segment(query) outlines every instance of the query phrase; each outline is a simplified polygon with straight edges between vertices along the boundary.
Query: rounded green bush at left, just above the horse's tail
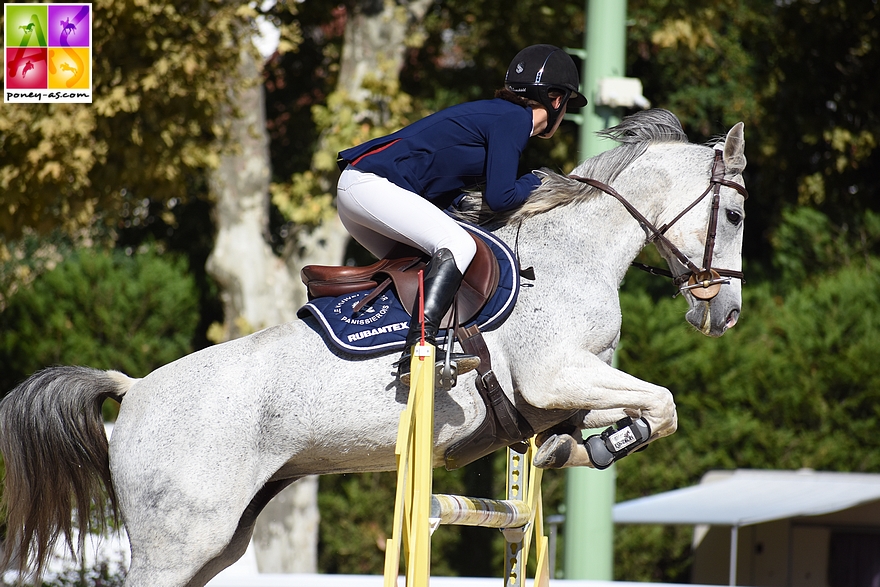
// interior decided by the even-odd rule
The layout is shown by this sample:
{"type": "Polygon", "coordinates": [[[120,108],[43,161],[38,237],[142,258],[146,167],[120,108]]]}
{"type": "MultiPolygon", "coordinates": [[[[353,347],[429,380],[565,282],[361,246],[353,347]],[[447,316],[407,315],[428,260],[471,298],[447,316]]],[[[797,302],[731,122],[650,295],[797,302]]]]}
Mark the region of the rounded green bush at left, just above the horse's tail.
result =
{"type": "Polygon", "coordinates": [[[0,313],[0,388],[52,364],[134,377],[190,351],[198,299],[185,263],[146,250],[78,250],[0,313]]]}

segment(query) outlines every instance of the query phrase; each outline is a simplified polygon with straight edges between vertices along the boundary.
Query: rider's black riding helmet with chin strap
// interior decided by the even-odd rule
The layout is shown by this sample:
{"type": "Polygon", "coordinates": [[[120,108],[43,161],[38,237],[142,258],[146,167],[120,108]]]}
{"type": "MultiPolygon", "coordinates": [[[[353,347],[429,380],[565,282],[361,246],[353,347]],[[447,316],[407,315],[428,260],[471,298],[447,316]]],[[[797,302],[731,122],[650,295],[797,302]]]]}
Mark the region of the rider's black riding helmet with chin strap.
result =
{"type": "Polygon", "coordinates": [[[562,114],[562,106],[568,109],[582,108],[587,99],[579,92],[580,78],[572,58],[553,45],[532,45],[516,54],[507,75],[504,87],[511,92],[534,100],[547,109],[547,130],[555,125],[562,114]],[[553,107],[550,90],[562,92],[562,106],[553,107]]]}

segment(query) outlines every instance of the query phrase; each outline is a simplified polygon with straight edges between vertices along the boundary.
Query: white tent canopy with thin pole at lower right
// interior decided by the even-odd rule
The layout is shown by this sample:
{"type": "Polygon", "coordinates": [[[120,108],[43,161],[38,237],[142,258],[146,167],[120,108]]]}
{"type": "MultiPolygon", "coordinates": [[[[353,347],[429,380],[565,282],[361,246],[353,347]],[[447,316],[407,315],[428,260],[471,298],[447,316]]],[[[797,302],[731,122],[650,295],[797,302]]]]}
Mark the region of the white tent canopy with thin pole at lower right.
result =
{"type": "Polygon", "coordinates": [[[699,485],[618,503],[617,524],[731,527],[730,584],[736,584],[740,526],[838,512],[880,500],[880,474],[736,470],[707,473],[699,485]]]}

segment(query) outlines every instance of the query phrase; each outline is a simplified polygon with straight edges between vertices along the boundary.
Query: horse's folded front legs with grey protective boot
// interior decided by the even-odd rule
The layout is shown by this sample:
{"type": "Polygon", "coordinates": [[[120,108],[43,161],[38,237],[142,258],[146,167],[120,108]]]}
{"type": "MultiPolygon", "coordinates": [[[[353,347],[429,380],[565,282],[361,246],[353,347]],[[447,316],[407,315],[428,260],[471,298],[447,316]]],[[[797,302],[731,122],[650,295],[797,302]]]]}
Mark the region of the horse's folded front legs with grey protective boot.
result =
{"type": "Polygon", "coordinates": [[[537,407],[582,410],[576,420],[539,435],[535,455],[538,467],[605,468],[649,442],[672,434],[678,426],[675,402],[668,389],[609,367],[594,355],[584,359],[575,367],[554,369],[549,378],[554,383],[549,388],[533,393],[526,390],[527,386],[521,390],[523,398],[537,407]],[[575,403],[579,401],[584,403],[575,403]],[[583,431],[594,428],[605,430],[585,439],[583,431]]]}

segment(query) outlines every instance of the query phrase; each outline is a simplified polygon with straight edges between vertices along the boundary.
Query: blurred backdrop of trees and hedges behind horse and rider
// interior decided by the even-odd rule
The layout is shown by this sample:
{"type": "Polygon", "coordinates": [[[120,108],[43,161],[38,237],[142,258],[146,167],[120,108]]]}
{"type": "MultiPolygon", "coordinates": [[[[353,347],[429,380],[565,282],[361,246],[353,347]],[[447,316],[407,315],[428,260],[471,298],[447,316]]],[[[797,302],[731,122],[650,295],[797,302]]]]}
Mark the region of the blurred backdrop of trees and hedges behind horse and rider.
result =
{"type": "MultiPolygon", "coordinates": [[[[616,500],[712,469],[880,472],[876,0],[624,4],[621,75],[691,142],[743,121],[751,197],[723,338],[687,326],[667,281],[626,278],[618,367],[669,387],[680,424],[616,466],[616,500]]],[[[337,151],[491,97],[519,49],[583,48],[588,27],[584,0],[92,7],[93,103],[0,108],[2,393],[53,364],[141,377],[295,319],[304,264],[367,260],[335,216],[337,151]]],[[[579,130],[533,141],[522,170],[571,170],[579,130]]],[[[437,471],[435,491],[501,497],[504,465],[437,471]]],[[[545,475],[547,513],[565,484],[545,475]]],[[[381,574],[393,490],[391,473],[298,482],[261,518],[260,570],[381,574]]],[[[692,538],[617,527],[614,578],[687,582],[692,538]]],[[[433,542],[435,574],[500,573],[495,531],[433,542]]]]}

